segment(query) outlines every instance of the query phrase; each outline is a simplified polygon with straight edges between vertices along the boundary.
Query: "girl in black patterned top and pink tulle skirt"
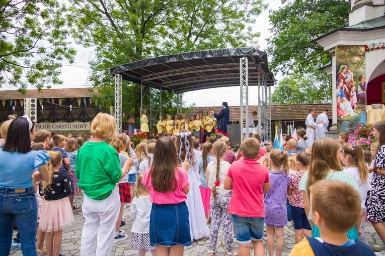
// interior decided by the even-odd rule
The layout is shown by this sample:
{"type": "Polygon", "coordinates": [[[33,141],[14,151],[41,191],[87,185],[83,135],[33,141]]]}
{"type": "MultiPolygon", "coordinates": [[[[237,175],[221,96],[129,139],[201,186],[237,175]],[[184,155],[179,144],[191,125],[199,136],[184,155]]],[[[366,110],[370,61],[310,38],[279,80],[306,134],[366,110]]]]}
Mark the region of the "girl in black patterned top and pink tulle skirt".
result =
{"type": "Polygon", "coordinates": [[[48,160],[50,178],[43,182],[44,202],[38,228],[47,232],[45,245],[48,256],[59,256],[63,228],[73,221],[68,199],[71,186],[68,174],[59,172],[63,160],[61,153],[51,151],[48,154],[52,155],[48,160]]]}

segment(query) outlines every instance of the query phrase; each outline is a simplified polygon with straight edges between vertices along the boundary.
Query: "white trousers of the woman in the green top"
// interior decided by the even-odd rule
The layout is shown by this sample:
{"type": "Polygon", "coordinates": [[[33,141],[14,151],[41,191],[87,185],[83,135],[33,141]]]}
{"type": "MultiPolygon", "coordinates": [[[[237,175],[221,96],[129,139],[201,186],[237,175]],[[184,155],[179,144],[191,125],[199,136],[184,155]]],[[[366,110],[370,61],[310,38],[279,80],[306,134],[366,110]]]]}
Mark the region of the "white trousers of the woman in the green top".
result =
{"type": "Polygon", "coordinates": [[[118,187],[104,200],[94,200],[84,194],[82,211],[86,220],[82,231],[81,256],[111,255],[119,209],[118,187]]]}

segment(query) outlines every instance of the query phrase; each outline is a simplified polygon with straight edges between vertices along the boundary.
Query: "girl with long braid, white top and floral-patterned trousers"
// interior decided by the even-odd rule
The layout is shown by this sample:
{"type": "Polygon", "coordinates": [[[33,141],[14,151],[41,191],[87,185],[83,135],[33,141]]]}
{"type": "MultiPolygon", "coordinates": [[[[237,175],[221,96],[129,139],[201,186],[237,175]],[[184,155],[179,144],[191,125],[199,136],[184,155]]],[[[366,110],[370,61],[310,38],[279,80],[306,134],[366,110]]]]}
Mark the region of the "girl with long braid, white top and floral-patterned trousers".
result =
{"type": "MultiPolygon", "coordinates": [[[[222,141],[217,141],[213,145],[216,161],[207,165],[207,184],[211,187],[212,197],[210,200],[211,210],[211,230],[210,230],[210,249],[207,251],[209,256],[214,256],[216,241],[220,222],[223,224],[224,243],[226,254],[234,255],[233,250],[233,222],[232,216],[228,212],[228,204],[232,197],[232,191],[223,188],[224,178],[230,168],[230,164],[224,161],[227,146],[222,141]]],[[[238,254],[238,251],[236,252],[238,254]]]]}

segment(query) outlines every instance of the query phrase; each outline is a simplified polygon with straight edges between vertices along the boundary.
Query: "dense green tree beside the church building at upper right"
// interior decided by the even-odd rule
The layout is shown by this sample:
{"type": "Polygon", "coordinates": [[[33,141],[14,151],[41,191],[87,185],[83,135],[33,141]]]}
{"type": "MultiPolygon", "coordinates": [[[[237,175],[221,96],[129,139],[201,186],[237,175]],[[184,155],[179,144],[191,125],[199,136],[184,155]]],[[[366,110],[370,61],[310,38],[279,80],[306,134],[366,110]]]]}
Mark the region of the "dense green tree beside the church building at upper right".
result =
{"type": "Polygon", "coordinates": [[[332,78],[318,69],[330,61],[329,53],[311,41],[348,26],[350,1],[282,0],[269,15],[270,65],[285,77],[272,94],[276,104],[330,102],[332,78]],[[329,87],[328,87],[329,86],[329,87]]]}

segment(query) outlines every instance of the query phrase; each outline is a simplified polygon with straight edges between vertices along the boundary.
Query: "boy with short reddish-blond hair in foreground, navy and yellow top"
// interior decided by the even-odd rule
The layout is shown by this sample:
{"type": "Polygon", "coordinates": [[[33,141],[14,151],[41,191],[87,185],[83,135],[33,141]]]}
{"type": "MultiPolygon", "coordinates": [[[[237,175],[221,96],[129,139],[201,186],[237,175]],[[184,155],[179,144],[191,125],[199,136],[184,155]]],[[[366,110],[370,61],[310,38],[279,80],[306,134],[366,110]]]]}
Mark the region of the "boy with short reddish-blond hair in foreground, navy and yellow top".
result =
{"type": "Polygon", "coordinates": [[[337,180],[318,181],[310,187],[310,205],[320,237],[303,238],[289,256],[375,255],[365,243],[347,237],[361,213],[361,198],[353,186],[337,180]]]}

